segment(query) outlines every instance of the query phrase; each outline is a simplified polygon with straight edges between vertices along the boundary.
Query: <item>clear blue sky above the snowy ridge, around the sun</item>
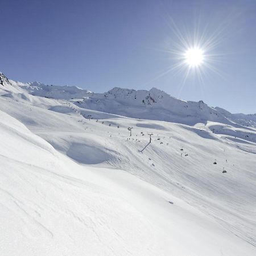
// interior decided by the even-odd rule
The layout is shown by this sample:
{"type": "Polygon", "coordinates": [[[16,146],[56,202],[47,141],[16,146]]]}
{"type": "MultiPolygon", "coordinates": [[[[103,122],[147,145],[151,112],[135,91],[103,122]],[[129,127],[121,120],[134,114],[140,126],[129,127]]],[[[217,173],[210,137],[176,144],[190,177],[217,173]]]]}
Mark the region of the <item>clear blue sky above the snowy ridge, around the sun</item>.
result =
{"type": "Polygon", "coordinates": [[[254,0],[0,3],[0,71],[9,79],[93,92],[155,87],[256,113],[254,0]],[[188,72],[178,58],[195,46],[204,46],[204,61],[188,72]]]}

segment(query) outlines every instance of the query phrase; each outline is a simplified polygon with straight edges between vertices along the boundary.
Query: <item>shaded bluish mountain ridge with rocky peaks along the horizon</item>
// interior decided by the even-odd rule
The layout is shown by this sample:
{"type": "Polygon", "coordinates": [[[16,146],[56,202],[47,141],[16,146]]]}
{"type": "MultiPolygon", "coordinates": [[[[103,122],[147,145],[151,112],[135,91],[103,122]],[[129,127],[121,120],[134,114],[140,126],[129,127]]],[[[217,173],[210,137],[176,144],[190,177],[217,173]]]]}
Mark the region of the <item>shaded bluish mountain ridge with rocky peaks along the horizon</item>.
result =
{"type": "Polygon", "coordinates": [[[256,127],[255,114],[231,114],[221,108],[210,108],[203,101],[179,100],[156,88],[147,91],[115,87],[106,93],[92,93],[76,86],[45,85],[40,82],[24,84],[12,80],[10,82],[19,85],[35,96],[63,100],[76,99],[75,104],[79,104],[82,108],[127,117],[177,122],[187,125],[207,123],[207,121],[226,124],[235,122],[242,126],[256,127]]]}

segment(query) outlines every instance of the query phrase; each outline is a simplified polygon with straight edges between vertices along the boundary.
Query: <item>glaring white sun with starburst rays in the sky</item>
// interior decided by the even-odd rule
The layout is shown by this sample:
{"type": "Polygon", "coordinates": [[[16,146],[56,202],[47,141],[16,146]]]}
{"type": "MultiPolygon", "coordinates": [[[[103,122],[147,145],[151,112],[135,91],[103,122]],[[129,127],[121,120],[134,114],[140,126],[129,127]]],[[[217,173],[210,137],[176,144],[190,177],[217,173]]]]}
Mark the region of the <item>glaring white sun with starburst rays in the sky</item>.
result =
{"type": "Polygon", "coordinates": [[[169,26],[172,34],[163,52],[168,53],[170,65],[159,72],[154,79],[168,73],[172,73],[172,77],[181,76],[182,89],[187,79],[196,79],[202,85],[204,79],[208,79],[211,73],[225,77],[218,68],[218,65],[224,63],[225,53],[217,51],[225,38],[224,28],[211,31],[207,29],[208,26],[200,25],[199,20],[193,27],[180,29],[172,18],[169,26]]]}

